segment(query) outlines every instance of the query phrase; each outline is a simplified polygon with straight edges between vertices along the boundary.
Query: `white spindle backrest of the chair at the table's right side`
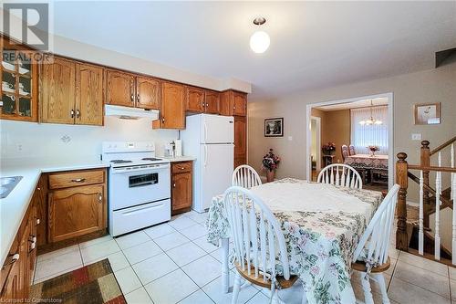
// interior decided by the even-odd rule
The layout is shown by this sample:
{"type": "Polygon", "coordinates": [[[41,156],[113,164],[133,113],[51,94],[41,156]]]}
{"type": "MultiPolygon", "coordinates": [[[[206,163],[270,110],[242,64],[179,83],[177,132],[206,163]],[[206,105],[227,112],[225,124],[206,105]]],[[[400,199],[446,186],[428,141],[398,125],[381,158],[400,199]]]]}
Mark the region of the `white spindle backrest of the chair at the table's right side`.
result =
{"type": "Polygon", "coordinates": [[[396,203],[398,202],[398,192],[399,184],[396,183],[379,205],[377,212],[368,224],[368,228],[359,239],[353,256],[354,262],[357,261],[363,250],[367,250],[365,258],[369,263],[382,265],[388,260],[389,236],[394,221],[396,203]],[[365,246],[367,246],[366,249],[365,246]]]}

